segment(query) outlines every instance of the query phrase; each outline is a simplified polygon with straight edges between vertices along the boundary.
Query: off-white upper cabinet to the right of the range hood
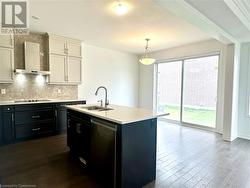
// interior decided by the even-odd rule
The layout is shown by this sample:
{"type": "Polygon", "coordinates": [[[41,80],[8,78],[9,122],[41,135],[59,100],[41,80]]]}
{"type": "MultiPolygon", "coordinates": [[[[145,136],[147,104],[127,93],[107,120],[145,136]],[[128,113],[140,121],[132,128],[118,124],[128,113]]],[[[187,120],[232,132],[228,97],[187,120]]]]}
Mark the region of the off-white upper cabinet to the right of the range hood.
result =
{"type": "Polygon", "coordinates": [[[50,84],[80,84],[81,41],[52,34],[48,36],[50,84]]]}

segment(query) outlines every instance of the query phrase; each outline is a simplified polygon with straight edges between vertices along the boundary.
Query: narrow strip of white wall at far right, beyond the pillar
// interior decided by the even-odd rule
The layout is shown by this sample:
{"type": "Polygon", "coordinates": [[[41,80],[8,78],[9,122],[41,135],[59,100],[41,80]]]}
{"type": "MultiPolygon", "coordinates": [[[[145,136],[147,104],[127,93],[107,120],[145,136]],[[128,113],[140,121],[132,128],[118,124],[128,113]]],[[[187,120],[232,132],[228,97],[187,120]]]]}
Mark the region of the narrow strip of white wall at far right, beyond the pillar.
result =
{"type": "Polygon", "coordinates": [[[239,126],[238,136],[250,139],[250,43],[242,44],[239,87],[239,126]]]}

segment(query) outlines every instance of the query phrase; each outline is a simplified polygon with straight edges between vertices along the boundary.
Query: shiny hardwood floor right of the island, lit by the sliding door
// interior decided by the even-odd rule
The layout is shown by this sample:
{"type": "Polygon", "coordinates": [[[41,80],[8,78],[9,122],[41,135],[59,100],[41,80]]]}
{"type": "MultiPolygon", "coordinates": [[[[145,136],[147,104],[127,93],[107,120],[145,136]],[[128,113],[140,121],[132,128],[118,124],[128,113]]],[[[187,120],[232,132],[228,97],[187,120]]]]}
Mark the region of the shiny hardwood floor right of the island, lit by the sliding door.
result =
{"type": "Polygon", "coordinates": [[[250,188],[250,141],[159,121],[152,187],[250,188]]]}

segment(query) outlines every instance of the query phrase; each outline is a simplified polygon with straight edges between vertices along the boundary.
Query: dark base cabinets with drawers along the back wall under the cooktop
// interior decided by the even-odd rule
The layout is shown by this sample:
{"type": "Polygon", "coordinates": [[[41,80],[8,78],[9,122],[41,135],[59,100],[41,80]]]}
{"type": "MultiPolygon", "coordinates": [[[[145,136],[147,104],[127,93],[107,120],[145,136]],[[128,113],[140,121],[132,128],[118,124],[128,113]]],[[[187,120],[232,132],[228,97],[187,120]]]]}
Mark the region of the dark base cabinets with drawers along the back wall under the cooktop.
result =
{"type": "Polygon", "coordinates": [[[65,105],[86,101],[0,106],[0,145],[67,130],[65,105]]]}

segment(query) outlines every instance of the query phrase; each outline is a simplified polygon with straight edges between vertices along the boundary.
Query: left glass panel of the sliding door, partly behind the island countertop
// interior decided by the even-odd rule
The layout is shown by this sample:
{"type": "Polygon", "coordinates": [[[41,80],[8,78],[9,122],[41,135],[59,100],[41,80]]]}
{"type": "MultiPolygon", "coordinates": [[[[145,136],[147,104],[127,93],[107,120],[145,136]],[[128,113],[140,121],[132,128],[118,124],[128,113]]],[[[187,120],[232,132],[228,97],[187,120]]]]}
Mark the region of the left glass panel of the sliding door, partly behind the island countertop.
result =
{"type": "Polygon", "coordinates": [[[182,61],[158,65],[158,112],[168,112],[167,119],[180,121],[182,61]]]}

